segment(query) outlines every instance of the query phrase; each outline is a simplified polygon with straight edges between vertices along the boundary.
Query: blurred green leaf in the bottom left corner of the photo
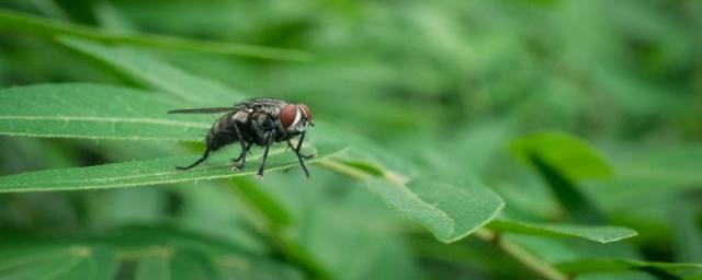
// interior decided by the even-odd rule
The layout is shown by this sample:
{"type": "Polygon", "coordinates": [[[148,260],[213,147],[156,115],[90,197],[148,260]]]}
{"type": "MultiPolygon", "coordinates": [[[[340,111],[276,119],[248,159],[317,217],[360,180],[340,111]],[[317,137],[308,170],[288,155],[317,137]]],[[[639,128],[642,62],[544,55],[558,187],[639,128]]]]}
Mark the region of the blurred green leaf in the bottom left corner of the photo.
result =
{"type": "Polygon", "coordinates": [[[88,245],[42,247],[12,246],[0,257],[2,279],[102,279],[116,271],[113,250],[88,245]]]}

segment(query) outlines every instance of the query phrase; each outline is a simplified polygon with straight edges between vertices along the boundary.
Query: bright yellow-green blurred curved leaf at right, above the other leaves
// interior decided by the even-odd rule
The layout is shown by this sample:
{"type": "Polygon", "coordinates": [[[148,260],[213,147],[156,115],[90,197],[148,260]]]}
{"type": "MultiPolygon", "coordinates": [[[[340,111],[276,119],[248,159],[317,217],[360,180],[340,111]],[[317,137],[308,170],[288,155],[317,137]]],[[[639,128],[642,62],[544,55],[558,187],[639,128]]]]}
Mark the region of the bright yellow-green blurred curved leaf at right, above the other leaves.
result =
{"type": "Polygon", "coordinates": [[[522,160],[537,155],[568,179],[610,178],[612,171],[587,142],[563,132],[536,133],[513,140],[510,151],[522,160]]]}

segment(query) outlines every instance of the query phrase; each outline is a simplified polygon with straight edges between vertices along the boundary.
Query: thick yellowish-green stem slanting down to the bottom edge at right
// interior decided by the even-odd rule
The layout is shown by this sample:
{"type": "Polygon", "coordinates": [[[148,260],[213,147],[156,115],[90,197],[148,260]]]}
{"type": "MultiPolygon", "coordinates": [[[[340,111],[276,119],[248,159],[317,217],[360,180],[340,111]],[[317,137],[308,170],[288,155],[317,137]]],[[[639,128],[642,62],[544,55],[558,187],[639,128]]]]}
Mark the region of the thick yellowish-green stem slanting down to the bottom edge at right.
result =
{"type": "Polygon", "coordinates": [[[475,236],[482,241],[495,244],[498,248],[505,252],[505,254],[509,255],[517,261],[521,262],[526,268],[529,268],[534,273],[541,276],[544,279],[548,279],[548,280],[568,280],[569,279],[568,276],[558,271],[556,268],[554,268],[550,264],[539,259],[536,256],[526,252],[524,248],[522,248],[518,244],[502,238],[499,232],[495,232],[495,231],[483,228],[475,232],[475,236]]]}

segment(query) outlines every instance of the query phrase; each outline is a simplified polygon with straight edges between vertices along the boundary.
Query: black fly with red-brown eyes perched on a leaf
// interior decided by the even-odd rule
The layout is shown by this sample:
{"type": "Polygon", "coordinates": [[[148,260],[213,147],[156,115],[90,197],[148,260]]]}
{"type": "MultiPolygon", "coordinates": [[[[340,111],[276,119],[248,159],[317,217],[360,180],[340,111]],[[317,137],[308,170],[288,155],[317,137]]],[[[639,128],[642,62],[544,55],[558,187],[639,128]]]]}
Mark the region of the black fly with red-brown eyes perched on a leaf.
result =
{"type": "Polygon", "coordinates": [[[204,162],[211,152],[217,151],[227,144],[239,142],[241,144],[241,153],[237,159],[234,159],[235,164],[231,168],[244,168],[246,155],[252,144],[264,147],[263,160],[257,173],[257,177],[262,178],[271,144],[285,141],[287,147],[297,155],[305,176],[309,177],[304,159],[310,159],[314,155],[305,155],[299,152],[307,128],[314,126],[312,110],[305,104],[290,104],[272,98],[254,98],[236,104],[234,107],[176,109],[168,113],[206,114],[225,112],[227,114],[212,125],[205,139],[206,149],[202,158],[191,165],[178,166],[178,170],[185,171],[195,167],[204,162]],[[299,141],[295,147],[291,139],[296,136],[299,136],[299,141]]]}

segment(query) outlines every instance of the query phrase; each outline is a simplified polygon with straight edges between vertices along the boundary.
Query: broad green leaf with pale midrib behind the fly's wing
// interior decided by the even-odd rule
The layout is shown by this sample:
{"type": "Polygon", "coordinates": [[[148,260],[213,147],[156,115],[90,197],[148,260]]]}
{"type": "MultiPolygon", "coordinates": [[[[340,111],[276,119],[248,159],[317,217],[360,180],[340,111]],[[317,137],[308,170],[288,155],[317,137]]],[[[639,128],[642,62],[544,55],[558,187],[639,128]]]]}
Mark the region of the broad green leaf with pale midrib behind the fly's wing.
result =
{"type": "Polygon", "coordinates": [[[211,116],[167,112],[182,102],[101,84],[44,84],[0,91],[0,135],[117,140],[199,141],[211,116]]]}

